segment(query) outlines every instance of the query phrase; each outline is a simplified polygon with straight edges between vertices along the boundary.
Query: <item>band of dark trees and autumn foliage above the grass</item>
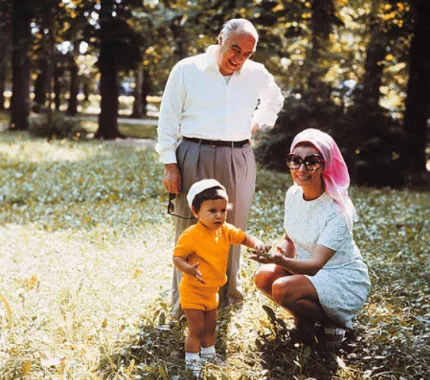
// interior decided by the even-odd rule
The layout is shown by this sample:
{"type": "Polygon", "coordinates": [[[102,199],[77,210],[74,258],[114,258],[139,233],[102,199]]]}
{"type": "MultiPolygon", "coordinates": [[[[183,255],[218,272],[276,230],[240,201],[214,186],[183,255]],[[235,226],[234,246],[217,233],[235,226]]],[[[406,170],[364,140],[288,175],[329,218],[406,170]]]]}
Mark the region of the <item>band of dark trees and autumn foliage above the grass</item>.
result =
{"type": "Polygon", "coordinates": [[[52,110],[76,115],[95,93],[95,137],[119,137],[120,107],[142,118],[178,60],[216,43],[226,20],[245,17],[260,33],[253,59],[286,97],[257,149],[260,162],[281,169],[292,136],[315,126],[338,141],[357,184],[423,185],[429,7],[424,0],[2,0],[0,108],[10,86],[11,128],[28,129],[30,110],[44,111],[48,131],[39,133],[55,134],[52,110]],[[132,106],[120,104],[120,91],[133,96],[132,106]]]}

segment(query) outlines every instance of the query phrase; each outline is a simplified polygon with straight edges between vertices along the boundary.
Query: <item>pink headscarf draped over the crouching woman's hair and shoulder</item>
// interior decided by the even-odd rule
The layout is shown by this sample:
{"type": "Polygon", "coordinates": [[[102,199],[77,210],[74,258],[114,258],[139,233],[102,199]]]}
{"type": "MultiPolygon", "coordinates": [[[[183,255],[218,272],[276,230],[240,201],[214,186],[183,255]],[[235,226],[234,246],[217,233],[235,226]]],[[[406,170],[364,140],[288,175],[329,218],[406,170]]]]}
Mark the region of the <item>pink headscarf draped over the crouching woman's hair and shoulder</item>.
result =
{"type": "Polygon", "coordinates": [[[356,221],[357,213],[348,196],[349,173],[342,153],[333,138],[318,129],[305,129],[300,132],[291,144],[290,153],[293,152],[297,144],[309,142],[318,149],[324,158],[323,181],[325,192],[333,198],[342,208],[348,229],[352,231],[353,221],[356,221]]]}

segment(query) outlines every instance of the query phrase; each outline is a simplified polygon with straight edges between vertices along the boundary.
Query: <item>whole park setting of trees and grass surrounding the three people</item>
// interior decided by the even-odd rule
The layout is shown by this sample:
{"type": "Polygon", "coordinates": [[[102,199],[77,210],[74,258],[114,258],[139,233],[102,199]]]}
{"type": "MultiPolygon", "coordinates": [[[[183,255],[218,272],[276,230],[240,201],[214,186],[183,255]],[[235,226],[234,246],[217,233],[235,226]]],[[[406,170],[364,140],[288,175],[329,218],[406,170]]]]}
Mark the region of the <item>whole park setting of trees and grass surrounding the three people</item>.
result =
{"type": "Polygon", "coordinates": [[[321,128],[351,171],[373,291],[340,350],[296,346],[245,257],[247,300],[220,327],[232,365],[207,377],[425,377],[428,1],[1,0],[0,15],[0,378],[183,378],[162,167],[121,138],[154,138],[172,66],[233,17],[286,98],[254,141],[250,231],[280,236],[286,148],[321,128]]]}

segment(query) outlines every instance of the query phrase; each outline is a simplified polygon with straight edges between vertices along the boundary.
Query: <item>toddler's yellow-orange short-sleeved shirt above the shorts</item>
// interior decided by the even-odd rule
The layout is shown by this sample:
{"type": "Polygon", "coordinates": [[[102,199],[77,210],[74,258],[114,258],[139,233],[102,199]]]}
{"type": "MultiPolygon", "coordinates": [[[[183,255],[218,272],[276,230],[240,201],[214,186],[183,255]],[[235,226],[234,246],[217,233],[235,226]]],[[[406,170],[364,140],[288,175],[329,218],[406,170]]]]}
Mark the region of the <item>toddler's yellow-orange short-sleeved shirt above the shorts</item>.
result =
{"type": "Polygon", "coordinates": [[[188,227],[179,237],[173,256],[183,257],[191,265],[200,263],[199,269],[206,284],[184,273],[182,281],[193,286],[220,287],[227,282],[227,261],[230,245],[241,244],[246,234],[240,228],[224,223],[210,230],[200,222],[188,227]]]}

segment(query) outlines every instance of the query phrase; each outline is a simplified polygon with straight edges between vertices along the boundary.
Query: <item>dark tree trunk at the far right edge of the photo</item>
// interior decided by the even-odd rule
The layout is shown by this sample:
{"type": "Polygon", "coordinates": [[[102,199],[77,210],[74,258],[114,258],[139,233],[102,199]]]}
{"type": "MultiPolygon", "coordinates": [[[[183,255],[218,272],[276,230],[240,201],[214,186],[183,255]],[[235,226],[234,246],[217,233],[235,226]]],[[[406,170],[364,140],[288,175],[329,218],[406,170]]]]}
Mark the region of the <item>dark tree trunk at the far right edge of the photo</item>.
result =
{"type": "Polygon", "coordinates": [[[410,170],[425,172],[430,105],[430,3],[428,0],[416,0],[412,4],[415,29],[410,48],[404,130],[414,136],[414,149],[409,157],[412,163],[410,170]]]}

